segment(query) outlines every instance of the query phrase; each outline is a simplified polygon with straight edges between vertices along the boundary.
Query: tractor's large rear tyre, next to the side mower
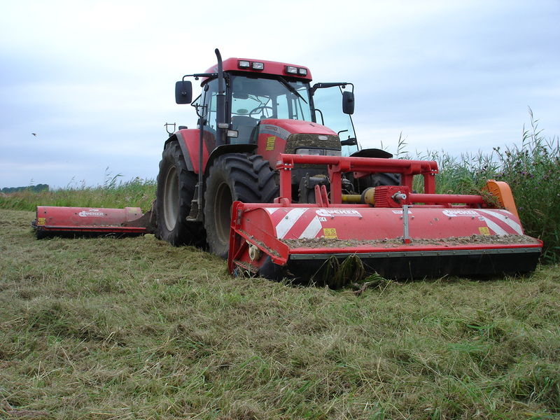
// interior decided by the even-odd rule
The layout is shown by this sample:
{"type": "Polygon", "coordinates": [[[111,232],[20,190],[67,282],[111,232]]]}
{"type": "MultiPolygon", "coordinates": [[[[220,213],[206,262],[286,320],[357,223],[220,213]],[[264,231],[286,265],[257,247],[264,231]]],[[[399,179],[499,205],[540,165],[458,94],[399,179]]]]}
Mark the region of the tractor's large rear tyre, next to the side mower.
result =
{"type": "Polygon", "coordinates": [[[202,223],[186,221],[197,180],[197,175],[187,169],[179,143],[172,141],[167,144],[158,174],[155,237],[173,246],[204,246],[206,237],[202,223]]]}

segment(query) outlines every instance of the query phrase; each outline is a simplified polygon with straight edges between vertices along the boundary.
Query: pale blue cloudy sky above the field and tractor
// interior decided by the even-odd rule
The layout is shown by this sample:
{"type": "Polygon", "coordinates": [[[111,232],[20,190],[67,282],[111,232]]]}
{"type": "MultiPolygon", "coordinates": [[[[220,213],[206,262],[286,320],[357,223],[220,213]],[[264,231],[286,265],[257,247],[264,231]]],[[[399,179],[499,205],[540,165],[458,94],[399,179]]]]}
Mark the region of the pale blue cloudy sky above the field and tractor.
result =
{"type": "Polygon", "coordinates": [[[490,153],[528,107],[555,137],[559,22],[560,0],[0,0],[0,188],[155,179],[165,123],[196,125],[175,81],[214,48],[352,82],[363,147],[490,153]]]}

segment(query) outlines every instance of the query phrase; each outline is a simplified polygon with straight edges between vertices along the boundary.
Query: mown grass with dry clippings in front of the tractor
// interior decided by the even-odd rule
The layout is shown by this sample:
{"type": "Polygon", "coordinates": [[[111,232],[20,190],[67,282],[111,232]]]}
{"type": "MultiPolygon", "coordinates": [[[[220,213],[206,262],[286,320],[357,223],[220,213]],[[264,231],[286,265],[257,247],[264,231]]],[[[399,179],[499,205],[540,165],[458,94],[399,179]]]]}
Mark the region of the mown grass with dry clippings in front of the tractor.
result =
{"type": "Polygon", "coordinates": [[[0,419],[558,419],[560,267],[365,292],[235,279],[0,210],[0,419]]]}

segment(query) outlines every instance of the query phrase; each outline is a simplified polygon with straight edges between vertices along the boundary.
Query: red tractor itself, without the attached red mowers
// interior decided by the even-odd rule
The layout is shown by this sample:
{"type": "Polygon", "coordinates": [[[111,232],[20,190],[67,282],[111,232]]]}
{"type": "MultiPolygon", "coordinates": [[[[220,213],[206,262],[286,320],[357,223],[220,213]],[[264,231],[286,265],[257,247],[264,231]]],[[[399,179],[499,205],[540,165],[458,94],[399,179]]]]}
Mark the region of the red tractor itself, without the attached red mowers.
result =
{"type": "MultiPolygon", "coordinates": [[[[378,149],[358,151],[351,83],[311,85],[304,66],[237,58],[222,62],[218,50],[216,56],[217,66],[176,83],[177,104],[192,102],[187,77],[202,78],[202,94],[193,102],[197,128],[179,127],[165,142],[155,206],[158,238],[173,245],[206,241],[212,253],[226,258],[233,202],[272,203],[278,197],[281,153],[391,158],[378,149]]],[[[314,202],[314,187],[328,186],[327,175],[325,165],[293,169],[293,200],[314,202]]],[[[349,174],[343,187],[360,194],[387,183],[398,184],[398,176],[370,174],[357,180],[349,174]]]]}

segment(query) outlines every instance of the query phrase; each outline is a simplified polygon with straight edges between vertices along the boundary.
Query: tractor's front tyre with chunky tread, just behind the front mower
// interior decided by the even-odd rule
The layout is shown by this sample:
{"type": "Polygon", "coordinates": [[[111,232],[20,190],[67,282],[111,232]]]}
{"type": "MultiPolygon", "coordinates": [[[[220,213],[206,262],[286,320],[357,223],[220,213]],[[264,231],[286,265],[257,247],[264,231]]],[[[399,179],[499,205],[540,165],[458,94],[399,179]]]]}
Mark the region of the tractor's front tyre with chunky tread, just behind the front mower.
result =
{"type": "Polygon", "coordinates": [[[210,168],[204,193],[204,228],[211,253],[228,258],[232,204],[268,203],[278,196],[274,171],[260,155],[221,155],[210,168]]]}

